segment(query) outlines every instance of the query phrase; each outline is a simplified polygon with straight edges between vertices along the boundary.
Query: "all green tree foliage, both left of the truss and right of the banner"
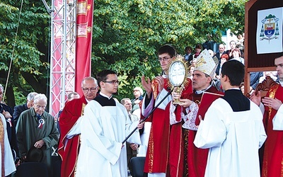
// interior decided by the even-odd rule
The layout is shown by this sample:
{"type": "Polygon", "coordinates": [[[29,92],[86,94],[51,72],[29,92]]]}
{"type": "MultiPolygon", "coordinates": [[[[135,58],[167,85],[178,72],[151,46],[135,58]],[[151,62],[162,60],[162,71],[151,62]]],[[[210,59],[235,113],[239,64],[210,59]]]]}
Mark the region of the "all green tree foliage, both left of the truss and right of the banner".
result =
{"type": "MultiPolygon", "coordinates": [[[[202,43],[207,35],[221,42],[221,32],[226,29],[243,33],[245,2],[95,0],[92,74],[115,70],[121,80],[117,98],[132,98],[132,89],[141,86],[142,75],[152,79],[161,73],[156,55],[161,45],[174,45],[184,54],[185,46],[202,43]]],[[[20,9],[21,1],[0,2],[0,82],[6,83],[12,59],[6,94],[12,98],[7,99],[10,105],[14,105],[14,91],[47,93],[50,75],[50,14],[42,1],[25,0],[18,26],[20,9]]]]}

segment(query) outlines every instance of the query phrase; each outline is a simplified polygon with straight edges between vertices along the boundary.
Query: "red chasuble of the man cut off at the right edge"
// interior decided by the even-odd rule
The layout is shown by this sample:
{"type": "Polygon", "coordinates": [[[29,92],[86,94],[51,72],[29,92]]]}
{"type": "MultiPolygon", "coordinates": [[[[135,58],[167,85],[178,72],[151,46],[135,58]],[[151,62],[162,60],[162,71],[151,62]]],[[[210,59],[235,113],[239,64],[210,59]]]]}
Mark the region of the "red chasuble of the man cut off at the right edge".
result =
{"type": "MultiPolygon", "coordinates": [[[[283,102],[283,87],[279,84],[272,86],[267,92],[267,97],[277,98],[283,102]]],[[[272,119],[277,110],[265,106],[263,123],[267,139],[262,161],[262,177],[283,176],[283,131],[273,130],[272,119]]]]}

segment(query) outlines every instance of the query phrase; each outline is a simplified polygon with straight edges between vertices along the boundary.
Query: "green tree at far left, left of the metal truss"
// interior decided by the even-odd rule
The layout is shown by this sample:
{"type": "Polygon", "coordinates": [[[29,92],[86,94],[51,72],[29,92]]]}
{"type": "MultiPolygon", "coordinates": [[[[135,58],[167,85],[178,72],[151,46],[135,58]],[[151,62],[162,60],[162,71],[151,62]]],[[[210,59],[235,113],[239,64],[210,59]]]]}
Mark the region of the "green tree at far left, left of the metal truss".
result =
{"type": "Polygon", "coordinates": [[[20,7],[21,1],[0,2],[0,82],[6,84],[12,60],[6,89],[6,102],[11,106],[15,99],[21,101],[14,91],[24,96],[30,91],[46,93],[49,72],[50,16],[41,1],[23,1],[19,18],[20,7]]]}

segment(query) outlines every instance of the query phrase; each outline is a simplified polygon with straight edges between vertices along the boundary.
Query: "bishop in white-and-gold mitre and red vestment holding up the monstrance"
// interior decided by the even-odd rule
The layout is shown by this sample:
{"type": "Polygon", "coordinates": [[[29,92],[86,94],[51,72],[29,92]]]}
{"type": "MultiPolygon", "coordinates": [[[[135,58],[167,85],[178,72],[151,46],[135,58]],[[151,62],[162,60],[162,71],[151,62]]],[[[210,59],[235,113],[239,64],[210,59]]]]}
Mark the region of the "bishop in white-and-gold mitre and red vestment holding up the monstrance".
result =
{"type": "MultiPolygon", "coordinates": [[[[180,96],[173,92],[173,98],[180,98],[179,105],[183,106],[182,113],[184,143],[185,143],[185,166],[184,176],[204,176],[207,166],[208,149],[199,149],[193,144],[197,133],[197,111],[202,101],[204,91],[223,95],[214,87],[213,76],[217,67],[217,60],[212,59],[207,50],[204,50],[198,57],[194,72],[192,74],[193,93],[189,96],[180,96]]],[[[210,104],[211,102],[209,102],[210,104]]],[[[204,103],[202,103],[203,105],[204,103]]]]}

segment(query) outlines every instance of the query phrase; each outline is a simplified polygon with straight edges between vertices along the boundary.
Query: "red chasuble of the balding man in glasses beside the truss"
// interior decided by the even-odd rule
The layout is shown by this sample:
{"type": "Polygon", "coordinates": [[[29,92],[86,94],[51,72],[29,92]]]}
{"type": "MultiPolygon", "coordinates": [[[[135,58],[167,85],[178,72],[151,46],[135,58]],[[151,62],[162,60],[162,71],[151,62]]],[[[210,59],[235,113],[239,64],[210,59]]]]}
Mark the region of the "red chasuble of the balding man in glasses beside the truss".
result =
{"type": "Polygon", "coordinates": [[[59,118],[61,135],[59,139],[58,154],[62,158],[61,176],[74,176],[76,161],[79,154],[79,135],[67,139],[67,134],[74,126],[76,120],[83,115],[83,108],[86,106],[86,98],[82,96],[79,99],[69,101],[59,118]],[[65,142],[68,140],[67,144],[65,142]],[[66,145],[66,146],[65,146],[66,145]]]}

